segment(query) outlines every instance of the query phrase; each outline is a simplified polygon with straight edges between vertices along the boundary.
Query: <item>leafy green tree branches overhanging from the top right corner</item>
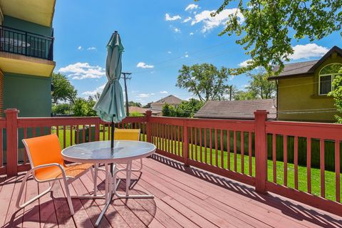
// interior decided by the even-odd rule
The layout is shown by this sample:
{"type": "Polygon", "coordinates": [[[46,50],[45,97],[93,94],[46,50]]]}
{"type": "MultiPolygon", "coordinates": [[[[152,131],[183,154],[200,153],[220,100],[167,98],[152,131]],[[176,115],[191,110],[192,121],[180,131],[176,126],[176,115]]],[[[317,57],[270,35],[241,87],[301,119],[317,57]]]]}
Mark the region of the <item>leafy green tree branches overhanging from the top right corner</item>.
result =
{"type": "MultiPolygon", "coordinates": [[[[232,0],[224,0],[212,16],[223,13],[227,7],[232,8],[232,4],[232,0]]],[[[240,74],[259,66],[271,72],[275,66],[280,66],[276,72],[279,73],[284,68],[283,61],[289,61],[294,53],[293,39],[320,40],[341,30],[341,6],[342,1],[337,0],[240,0],[219,36],[237,35],[236,43],[243,46],[252,59],[248,66],[229,72],[240,74]]]]}

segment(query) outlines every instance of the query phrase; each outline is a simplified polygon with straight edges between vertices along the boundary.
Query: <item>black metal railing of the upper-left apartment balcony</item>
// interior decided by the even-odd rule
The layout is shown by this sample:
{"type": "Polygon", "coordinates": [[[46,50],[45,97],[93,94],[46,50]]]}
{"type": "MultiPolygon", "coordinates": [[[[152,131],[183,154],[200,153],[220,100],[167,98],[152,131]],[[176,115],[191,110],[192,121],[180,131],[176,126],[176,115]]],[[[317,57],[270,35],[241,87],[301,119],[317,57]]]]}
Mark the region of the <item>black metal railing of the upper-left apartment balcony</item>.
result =
{"type": "Polygon", "coordinates": [[[0,51],[53,60],[53,37],[0,26],[0,51]]]}

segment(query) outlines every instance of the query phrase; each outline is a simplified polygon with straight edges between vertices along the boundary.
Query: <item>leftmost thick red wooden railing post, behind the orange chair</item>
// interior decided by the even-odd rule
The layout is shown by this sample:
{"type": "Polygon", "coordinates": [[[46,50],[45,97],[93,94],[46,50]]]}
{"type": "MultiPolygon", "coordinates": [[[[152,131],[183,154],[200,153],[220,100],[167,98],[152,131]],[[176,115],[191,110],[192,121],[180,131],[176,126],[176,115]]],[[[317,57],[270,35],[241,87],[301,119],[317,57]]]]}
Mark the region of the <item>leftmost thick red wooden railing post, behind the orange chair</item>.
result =
{"type": "Polygon", "coordinates": [[[18,113],[16,108],[5,110],[6,114],[6,147],[7,147],[7,176],[18,175],[18,113]]]}

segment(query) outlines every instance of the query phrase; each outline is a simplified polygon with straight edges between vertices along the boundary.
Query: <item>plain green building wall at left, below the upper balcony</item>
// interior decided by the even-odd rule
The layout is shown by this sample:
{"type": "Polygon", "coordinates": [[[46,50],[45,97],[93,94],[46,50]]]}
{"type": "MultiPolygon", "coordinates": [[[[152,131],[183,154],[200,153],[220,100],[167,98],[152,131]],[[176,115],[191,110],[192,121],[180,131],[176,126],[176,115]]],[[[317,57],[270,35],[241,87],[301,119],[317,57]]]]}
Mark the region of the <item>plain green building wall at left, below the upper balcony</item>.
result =
{"type": "Polygon", "coordinates": [[[4,110],[19,109],[19,117],[51,116],[51,78],[4,73],[4,110]]]}

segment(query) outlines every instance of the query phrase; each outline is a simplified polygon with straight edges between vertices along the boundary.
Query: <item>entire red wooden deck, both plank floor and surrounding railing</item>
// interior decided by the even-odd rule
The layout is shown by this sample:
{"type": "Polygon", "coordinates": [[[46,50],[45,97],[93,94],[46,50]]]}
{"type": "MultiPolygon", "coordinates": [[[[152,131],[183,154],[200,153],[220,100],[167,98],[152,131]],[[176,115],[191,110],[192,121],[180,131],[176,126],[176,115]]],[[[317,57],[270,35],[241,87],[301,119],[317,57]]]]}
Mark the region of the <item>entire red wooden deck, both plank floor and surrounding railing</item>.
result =
{"type": "MultiPolygon", "coordinates": [[[[155,198],[114,200],[100,226],[342,227],[342,125],[270,121],[263,111],[255,115],[255,120],[163,118],[150,113],[125,118],[115,127],[139,128],[140,140],[157,147],[155,155],[144,159],[142,175],[135,176],[139,181],[133,187],[155,198]],[[305,147],[301,147],[304,138],[305,147]],[[276,154],[279,147],[281,159],[276,154]],[[329,160],[333,167],[328,166],[329,160]]],[[[48,133],[56,133],[61,146],[68,147],[109,140],[110,124],[97,117],[17,118],[17,110],[6,110],[6,118],[0,118],[1,226],[92,227],[103,208],[103,199],[73,199],[76,214],[71,217],[58,182],[52,196],[16,209],[23,172],[29,169],[19,138],[48,133]]],[[[73,182],[72,195],[90,193],[90,179],[88,173],[73,182]]],[[[104,183],[98,187],[103,191],[104,183]]],[[[124,183],[120,187],[123,190],[124,183]]],[[[31,179],[26,198],[45,188],[31,179]]]]}

